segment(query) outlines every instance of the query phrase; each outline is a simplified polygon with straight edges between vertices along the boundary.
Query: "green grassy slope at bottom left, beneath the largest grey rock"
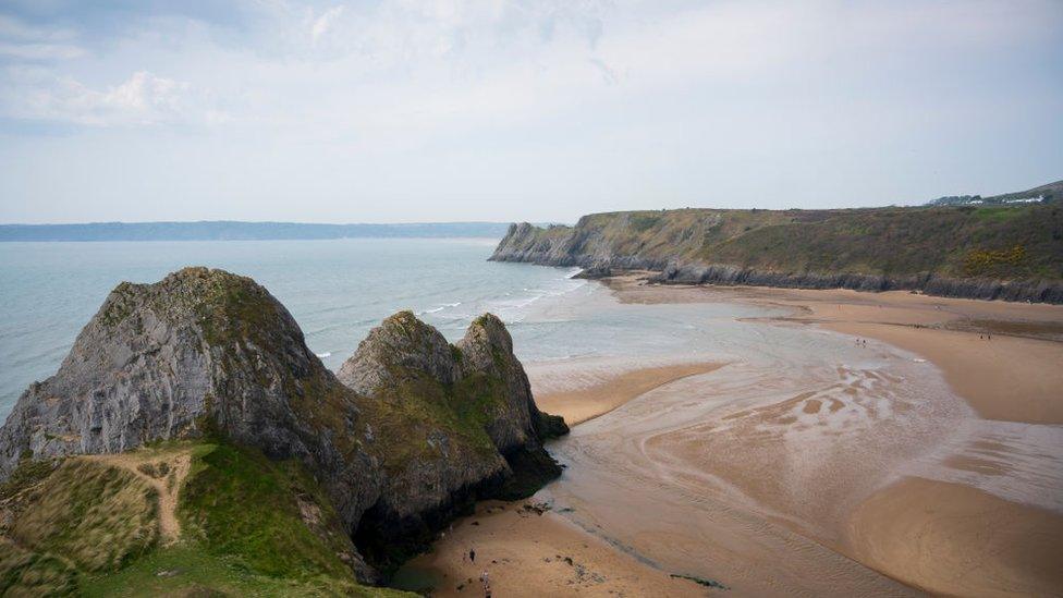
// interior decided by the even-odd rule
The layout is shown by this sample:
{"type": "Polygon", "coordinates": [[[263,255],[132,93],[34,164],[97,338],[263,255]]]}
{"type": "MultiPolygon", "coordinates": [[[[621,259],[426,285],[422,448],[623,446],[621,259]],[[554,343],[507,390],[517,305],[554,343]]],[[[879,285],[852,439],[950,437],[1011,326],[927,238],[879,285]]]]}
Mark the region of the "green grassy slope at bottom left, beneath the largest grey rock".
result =
{"type": "Polygon", "coordinates": [[[117,467],[71,459],[0,489],[0,500],[32,495],[0,540],[0,594],[400,595],[356,583],[340,557],[351,540],[296,463],[228,444],[171,448],[193,452],[171,546],[158,545],[152,490],[117,467]]]}

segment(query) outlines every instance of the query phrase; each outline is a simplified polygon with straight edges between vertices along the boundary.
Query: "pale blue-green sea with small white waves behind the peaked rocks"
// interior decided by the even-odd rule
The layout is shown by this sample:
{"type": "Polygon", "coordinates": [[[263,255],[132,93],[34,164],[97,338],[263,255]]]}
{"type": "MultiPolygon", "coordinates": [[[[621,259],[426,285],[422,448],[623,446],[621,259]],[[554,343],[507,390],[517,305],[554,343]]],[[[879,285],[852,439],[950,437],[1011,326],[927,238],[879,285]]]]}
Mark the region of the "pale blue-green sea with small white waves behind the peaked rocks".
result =
{"type": "Polygon", "coordinates": [[[488,261],[497,239],[0,243],[0,422],[53,375],[120,282],[186,266],[251,277],[292,313],[306,343],[338,369],[369,330],[401,309],[449,340],[490,312],[526,363],[689,354],[705,345],[682,315],[598,309],[600,284],[574,268],[488,261]],[[582,305],[582,309],[565,306],[582,305]]]}

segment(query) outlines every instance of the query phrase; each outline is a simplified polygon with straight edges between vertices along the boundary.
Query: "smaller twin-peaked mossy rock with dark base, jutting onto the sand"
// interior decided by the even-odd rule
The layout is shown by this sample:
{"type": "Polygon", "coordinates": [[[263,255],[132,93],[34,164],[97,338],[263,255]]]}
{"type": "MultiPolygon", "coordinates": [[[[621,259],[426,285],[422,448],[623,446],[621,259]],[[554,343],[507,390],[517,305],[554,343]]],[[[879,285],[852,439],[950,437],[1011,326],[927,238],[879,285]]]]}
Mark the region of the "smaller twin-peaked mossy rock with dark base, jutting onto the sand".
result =
{"type": "Polygon", "coordinates": [[[424,537],[472,498],[523,496],[561,472],[541,441],[567,428],[536,407],[510,334],[490,314],[454,345],[412,313],[395,314],[338,377],[371,399],[374,435],[403,457],[386,457],[375,523],[359,536],[378,561],[395,560],[388,552],[401,552],[404,538],[424,537]]]}

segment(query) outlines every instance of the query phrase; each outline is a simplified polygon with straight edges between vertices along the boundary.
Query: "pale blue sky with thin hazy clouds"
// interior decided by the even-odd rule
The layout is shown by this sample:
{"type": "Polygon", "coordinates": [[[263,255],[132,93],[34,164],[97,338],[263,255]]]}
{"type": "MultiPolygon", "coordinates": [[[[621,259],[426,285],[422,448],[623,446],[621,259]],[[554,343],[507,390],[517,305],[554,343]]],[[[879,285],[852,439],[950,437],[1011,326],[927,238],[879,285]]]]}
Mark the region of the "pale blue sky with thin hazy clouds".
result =
{"type": "Polygon", "coordinates": [[[1061,0],[0,0],[0,222],[571,222],[1059,179],[1061,0]]]}

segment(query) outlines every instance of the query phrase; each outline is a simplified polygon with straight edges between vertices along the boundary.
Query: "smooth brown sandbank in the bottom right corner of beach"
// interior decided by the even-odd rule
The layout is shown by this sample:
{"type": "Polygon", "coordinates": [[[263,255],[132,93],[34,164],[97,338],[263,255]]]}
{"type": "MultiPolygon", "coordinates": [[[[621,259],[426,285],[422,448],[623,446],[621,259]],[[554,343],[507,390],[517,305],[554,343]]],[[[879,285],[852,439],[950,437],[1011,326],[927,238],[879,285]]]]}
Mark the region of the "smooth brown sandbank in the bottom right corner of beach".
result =
{"type": "Polygon", "coordinates": [[[970,486],[907,477],[860,504],[850,525],[856,558],[933,594],[1063,591],[1063,518],[970,486]]]}

